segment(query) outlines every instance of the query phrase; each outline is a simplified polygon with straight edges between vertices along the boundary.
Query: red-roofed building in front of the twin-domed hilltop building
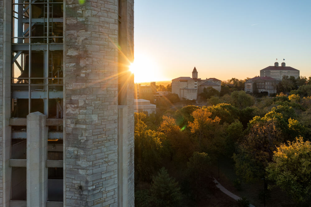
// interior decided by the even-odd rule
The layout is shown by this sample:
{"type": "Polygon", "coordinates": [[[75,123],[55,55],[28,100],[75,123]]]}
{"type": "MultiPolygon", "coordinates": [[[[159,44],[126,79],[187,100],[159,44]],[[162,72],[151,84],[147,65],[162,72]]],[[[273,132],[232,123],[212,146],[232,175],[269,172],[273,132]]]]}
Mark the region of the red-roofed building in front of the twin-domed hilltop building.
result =
{"type": "Polygon", "coordinates": [[[255,92],[264,92],[267,91],[268,94],[276,93],[276,85],[279,83],[279,80],[276,80],[272,77],[253,77],[246,80],[245,92],[255,93],[255,92]]]}

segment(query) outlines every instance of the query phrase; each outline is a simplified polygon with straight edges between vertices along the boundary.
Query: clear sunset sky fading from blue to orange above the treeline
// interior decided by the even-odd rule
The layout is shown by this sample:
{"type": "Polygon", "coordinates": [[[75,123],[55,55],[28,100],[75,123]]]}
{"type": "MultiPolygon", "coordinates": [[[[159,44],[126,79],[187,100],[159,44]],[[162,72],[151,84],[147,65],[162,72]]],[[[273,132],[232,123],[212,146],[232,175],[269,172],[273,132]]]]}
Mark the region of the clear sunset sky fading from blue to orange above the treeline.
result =
{"type": "Polygon", "coordinates": [[[311,76],[311,1],[135,0],[135,82],[245,79],[281,65],[311,76]]]}

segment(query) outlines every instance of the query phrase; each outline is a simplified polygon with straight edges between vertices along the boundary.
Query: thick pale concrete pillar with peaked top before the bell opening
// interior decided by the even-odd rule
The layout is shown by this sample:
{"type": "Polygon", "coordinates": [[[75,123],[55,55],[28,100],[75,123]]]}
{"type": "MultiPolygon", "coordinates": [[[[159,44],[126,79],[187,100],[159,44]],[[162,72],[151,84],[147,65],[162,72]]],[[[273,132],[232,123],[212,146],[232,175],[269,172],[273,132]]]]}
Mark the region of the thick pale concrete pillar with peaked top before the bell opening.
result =
{"type": "Polygon", "coordinates": [[[41,207],[46,201],[46,147],[48,127],[46,115],[34,112],[27,115],[27,207],[41,207]],[[44,193],[45,192],[45,193],[44,193]]]}

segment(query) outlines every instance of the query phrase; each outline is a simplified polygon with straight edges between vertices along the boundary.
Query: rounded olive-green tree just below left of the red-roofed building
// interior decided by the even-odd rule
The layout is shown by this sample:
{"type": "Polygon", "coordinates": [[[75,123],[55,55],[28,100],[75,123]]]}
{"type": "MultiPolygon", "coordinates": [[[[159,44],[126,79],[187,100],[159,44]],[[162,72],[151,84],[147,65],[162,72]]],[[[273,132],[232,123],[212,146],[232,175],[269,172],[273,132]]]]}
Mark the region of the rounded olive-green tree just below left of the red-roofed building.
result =
{"type": "Polygon", "coordinates": [[[242,109],[254,105],[255,98],[246,94],[245,91],[233,91],[230,96],[230,102],[232,106],[242,109]]]}

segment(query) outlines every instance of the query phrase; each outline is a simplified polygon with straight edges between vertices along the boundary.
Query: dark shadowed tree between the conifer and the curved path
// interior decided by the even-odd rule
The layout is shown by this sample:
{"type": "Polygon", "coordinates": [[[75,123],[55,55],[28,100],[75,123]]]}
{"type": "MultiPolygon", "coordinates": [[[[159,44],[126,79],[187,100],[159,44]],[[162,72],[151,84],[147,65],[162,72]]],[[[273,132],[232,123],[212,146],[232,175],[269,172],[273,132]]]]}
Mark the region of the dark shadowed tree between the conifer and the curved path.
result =
{"type": "Polygon", "coordinates": [[[194,152],[187,162],[187,177],[183,186],[194,200],[200,200],[216,190],[211,168],[211,158],[204,152],[194,152]]]}

